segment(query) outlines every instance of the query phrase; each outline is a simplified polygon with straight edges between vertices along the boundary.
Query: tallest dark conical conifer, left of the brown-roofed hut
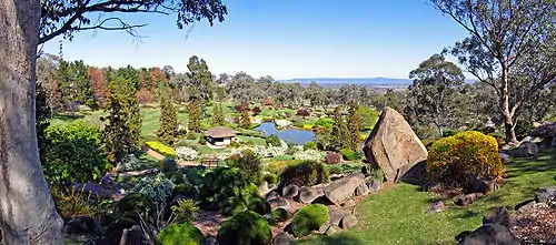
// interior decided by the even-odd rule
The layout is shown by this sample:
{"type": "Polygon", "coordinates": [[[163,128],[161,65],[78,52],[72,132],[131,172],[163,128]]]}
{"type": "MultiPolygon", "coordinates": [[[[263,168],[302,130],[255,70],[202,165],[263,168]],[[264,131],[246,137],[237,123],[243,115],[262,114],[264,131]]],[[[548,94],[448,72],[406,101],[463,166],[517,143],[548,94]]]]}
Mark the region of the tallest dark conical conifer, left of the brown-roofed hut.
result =
{"type": "Polygon", "coordinates": [[[130,80],[115,76],[109,91],[103,131],[110,161],[118,163],[141,141],[141,114],[137,90],[130,80]]]}

